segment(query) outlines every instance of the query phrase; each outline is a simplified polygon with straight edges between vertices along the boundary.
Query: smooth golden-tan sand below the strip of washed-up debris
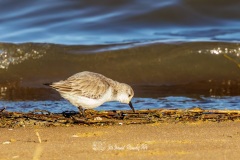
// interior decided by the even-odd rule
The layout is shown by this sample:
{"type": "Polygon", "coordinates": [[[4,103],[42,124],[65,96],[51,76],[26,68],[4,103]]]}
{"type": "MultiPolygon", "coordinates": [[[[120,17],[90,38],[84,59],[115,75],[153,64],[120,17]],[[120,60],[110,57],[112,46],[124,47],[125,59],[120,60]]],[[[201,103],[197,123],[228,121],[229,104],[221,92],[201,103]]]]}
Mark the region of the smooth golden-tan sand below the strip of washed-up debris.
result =
{"type": "Polygon", "coordinates": [[[239,159],[239,126],[237,120],[0,128],[0,160],[239,159]]]}

